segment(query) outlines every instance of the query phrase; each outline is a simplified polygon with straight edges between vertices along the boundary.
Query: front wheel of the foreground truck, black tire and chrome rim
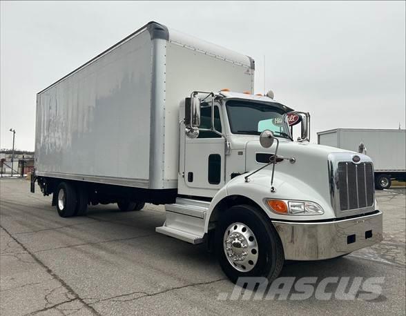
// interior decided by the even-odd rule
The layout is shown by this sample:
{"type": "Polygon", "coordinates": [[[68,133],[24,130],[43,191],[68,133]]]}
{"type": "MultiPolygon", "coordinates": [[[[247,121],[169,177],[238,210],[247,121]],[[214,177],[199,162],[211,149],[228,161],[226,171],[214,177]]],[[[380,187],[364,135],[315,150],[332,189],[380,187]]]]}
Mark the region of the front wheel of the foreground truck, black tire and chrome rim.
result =
{"type": "Polygon", "coordinates": [[[239,277],[266,277],[271,282],[284,264],[278,233],[267,217],[249,205],[233,206],[220,216],[215,252],[223,272],[233,283],[239,277]],[[244,246],[249,251],[240,250],[244,246]],[[241,255],[242,260],[240,257],[235,261],[235,254],[241,255]]]}

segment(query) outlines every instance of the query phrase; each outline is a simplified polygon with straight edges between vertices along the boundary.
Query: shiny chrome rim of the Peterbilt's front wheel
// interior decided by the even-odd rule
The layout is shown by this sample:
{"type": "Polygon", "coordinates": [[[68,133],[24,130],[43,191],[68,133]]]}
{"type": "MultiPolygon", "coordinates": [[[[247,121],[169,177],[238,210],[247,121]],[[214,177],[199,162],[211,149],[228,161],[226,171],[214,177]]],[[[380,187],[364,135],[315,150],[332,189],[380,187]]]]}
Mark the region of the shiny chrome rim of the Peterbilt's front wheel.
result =
{"type": "Polygon", "coordinates": [[[224,232],[223,247],[227,260],[238,271],[248,272],[258,261],[258,242],[246,224],[231,224],[224,232]]]}

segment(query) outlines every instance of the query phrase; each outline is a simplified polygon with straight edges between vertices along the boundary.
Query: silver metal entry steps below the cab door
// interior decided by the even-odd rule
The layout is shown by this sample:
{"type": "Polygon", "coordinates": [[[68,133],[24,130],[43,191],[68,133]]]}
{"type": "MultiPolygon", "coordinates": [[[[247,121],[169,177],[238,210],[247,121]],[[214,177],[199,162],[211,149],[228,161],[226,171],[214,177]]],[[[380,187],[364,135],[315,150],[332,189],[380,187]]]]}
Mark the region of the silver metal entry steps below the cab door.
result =
{"type": "Polygon", "coordinates": [[[191,244],[202,244],[209,206],[207,201],[177,198],[175,204],[165,206],[166,221],[155,231],[191,244]]]}

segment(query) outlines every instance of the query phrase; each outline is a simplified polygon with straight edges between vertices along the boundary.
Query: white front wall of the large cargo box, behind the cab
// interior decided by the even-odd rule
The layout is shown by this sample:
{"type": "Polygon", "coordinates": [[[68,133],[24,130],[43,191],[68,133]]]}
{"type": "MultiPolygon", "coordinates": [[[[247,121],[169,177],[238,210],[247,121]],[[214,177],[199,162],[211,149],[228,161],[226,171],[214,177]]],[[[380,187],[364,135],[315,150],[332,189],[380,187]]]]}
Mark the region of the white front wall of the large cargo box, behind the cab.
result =
{"type": "MultiPolygon", "coordinates": [[[[171,33],[170,33],[171,34],[171,33]]],[[[247,65],[220,59],[181,43],[166,44],[166,106],[164,170],[165,181],[177,180],[179,108],[185,97],[194,90],[218,92],[222,88],[232,91],[253,91],[254,70],[247,65]]]]}

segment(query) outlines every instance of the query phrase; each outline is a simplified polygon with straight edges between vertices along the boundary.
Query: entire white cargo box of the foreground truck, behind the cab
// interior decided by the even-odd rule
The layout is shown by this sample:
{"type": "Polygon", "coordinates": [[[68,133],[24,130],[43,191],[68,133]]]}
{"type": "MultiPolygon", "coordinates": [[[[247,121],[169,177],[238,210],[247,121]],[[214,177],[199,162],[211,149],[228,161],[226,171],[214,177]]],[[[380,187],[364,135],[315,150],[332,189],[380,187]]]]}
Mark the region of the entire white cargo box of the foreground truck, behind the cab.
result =
{"type": "Polygon", "coordinates": [[[253,77],[250,57],[148,23],[37,94],[36,174],[177,188],[180,102],[253,77]]]}

